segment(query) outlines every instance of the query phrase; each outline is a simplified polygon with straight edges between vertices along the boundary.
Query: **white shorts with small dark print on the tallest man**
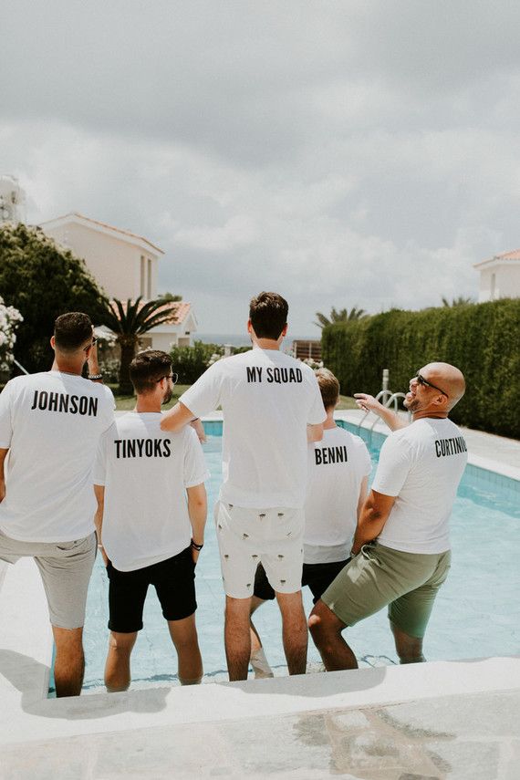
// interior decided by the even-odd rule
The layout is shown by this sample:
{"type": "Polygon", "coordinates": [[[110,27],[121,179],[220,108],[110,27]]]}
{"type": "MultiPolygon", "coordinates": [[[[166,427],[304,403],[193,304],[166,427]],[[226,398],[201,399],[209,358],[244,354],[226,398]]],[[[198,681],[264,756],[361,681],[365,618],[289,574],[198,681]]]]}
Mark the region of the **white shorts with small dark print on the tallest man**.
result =
{"type": "Polygon", "coordinates": [[[278,593],[301,590],[303,509],[251,509],[218,501],[214,518],[226,596],[253,596],[260,562],[278,593]]]}

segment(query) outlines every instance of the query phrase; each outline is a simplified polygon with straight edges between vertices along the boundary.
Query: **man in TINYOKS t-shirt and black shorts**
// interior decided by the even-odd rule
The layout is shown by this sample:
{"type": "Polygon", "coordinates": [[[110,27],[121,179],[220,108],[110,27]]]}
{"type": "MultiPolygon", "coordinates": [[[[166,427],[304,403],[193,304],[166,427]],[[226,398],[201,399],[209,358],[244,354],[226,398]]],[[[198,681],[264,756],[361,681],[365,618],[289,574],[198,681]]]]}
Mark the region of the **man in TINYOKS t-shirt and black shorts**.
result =
{"type": "Polygon", "coordinates": [[[195,564],[203,548],[209,476],[190,426],[161,431],[161,406],[177,376],[165,352],[147,349],[130,363],[134,411],[119,417],[99,442],[94,469],[99,546],[109,575],[109,692],[130,685],[130,654],[142,629],[153,585],[179,660],[183,685],[201,681],[195,627],[195,564]]]}

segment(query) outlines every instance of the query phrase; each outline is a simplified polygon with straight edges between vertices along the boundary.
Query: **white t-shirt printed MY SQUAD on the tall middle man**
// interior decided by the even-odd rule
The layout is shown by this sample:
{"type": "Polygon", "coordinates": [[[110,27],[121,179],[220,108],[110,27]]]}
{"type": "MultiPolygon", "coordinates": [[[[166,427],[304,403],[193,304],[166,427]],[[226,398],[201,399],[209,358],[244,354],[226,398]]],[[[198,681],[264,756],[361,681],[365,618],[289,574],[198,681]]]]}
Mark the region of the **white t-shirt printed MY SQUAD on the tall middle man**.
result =
{"type": "Polygon", "coordinates": [[[327,417],[312,369],[277,349],[255,347],[213,363],[180,400],[196,417],[222,406],[223,501],[303,506],[307,424],[327,417]]]}

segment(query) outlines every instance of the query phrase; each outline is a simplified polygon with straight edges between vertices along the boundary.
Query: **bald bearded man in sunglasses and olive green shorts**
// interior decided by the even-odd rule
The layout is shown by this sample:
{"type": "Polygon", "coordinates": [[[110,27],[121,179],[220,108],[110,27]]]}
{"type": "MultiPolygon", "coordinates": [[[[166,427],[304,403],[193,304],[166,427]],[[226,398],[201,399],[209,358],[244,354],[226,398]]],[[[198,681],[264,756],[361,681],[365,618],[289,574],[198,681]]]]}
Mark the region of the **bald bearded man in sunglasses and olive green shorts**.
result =
{"type": "Polygon", "coordinates": [[[450,569],[449,520],[467,462],[463,435],[448,419],[464,390],[459,369],[448,363],[424,366],[410,380],[404,400],[410,424],[372,396],[356,396],[392,432],[359,516],[352,560],[309,618],[327,671],[357,669],[342,631],[387,606],[400,663],[425,660],[422,640],[450,569]]]}

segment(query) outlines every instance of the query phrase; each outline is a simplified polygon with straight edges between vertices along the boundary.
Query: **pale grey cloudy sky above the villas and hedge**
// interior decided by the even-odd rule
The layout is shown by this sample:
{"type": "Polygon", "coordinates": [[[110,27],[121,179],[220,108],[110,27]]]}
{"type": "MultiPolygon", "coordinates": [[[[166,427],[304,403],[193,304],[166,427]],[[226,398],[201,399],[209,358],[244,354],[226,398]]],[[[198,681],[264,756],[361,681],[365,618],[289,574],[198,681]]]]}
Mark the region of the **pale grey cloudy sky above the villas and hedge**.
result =
{"type": "Polygon", "coordinates": [[[520,245],[511,0],[3,0],[0,173],[166,252],[200,330],[477,296],[520,245]]]}

